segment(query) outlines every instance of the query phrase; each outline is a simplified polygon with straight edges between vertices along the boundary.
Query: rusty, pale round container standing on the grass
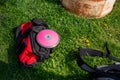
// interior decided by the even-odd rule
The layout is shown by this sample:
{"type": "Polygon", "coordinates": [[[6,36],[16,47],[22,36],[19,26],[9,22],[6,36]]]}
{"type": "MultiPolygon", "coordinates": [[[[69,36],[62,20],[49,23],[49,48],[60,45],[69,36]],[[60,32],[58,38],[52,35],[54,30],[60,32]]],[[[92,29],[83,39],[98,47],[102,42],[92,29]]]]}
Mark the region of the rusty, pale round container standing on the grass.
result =
{"type": "Polygon", "coordinates": [[[101,18],[110,13],[115,0],[61,0],[63,6],[78,16],[101,18]]]}

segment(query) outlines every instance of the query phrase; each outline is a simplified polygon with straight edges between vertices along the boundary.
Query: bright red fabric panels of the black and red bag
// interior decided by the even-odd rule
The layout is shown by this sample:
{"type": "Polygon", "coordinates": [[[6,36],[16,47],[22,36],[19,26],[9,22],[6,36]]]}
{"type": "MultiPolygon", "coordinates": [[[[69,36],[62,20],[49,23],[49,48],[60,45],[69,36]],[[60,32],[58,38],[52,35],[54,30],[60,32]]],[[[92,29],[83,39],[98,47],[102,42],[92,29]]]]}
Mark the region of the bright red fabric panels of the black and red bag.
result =
{"type": "MultiPolygon", "coordinates": [[[[27,31],[28,28],[32,28],[32,23],[28,22],[21,25],[22,34],[27,31]]],[[[19,55],[19,59],[22,63],[27,65],[31,65],[37,62],[38,56],[35,55],[32,51],[31,43],[30,43],[30,36],[24,38],[22,42],[25,42],[27,46],[25,47],[24,51],[19,55]]]]}

